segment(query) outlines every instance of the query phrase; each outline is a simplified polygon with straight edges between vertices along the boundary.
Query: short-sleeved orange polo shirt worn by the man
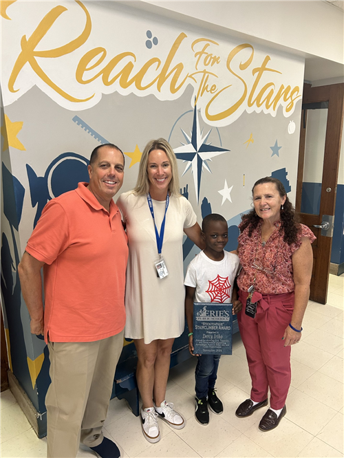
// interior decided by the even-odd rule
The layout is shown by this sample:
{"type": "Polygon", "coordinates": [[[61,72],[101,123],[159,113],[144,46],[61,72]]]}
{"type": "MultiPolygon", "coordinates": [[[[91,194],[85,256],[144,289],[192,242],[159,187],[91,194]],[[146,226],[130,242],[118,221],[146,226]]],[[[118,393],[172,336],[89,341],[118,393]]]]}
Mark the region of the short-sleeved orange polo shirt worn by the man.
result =
{"type": "Polygon", "coordinates": [[[43,267],[45,342],[92,342],[125,326],[127,235],[87,183],[47,203],[25,250],[43,267]]]}

